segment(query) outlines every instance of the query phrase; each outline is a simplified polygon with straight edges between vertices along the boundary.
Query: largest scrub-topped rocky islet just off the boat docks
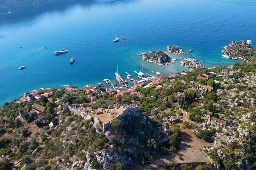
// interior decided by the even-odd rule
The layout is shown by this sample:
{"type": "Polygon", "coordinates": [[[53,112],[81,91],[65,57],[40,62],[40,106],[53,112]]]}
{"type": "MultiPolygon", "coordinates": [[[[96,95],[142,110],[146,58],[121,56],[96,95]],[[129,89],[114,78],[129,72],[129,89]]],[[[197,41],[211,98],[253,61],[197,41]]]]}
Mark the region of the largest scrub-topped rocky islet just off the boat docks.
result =
{"type": "Polygon", "coordinates": [[[169,55],[164,53],[163,51],[150,51],[148,53],[139,54],[141,58],[150,63],[159,63],[163,64],[170,61],[169,55]]]}

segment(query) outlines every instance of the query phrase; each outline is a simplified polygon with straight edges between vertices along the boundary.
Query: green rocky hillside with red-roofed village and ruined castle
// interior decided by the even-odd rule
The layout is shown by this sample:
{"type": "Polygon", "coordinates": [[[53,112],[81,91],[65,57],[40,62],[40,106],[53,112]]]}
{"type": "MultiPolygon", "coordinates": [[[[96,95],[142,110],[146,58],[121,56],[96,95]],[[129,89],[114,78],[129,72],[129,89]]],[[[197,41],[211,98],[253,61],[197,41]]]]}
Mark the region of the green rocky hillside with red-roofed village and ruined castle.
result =
{"type": "Polygon", "coordinates": [[[40,88],[0,110],[1,169],[256,169],[256,56],[132,87],[40,88]]]}

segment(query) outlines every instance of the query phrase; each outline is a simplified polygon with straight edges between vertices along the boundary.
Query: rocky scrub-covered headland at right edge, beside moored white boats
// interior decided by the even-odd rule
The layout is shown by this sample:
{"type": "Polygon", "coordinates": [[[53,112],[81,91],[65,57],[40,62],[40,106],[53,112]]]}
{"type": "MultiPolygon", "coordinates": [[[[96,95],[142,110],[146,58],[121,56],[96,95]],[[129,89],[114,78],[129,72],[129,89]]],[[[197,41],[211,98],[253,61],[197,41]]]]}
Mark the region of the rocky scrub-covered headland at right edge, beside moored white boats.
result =
{"type": "Polygon", "coordinates": [[[256,57],[256,48],[245,41],[232,41],[222,49],[222,53],[234,60],[241,59],[250,62],[253,57],[256,57]]]}

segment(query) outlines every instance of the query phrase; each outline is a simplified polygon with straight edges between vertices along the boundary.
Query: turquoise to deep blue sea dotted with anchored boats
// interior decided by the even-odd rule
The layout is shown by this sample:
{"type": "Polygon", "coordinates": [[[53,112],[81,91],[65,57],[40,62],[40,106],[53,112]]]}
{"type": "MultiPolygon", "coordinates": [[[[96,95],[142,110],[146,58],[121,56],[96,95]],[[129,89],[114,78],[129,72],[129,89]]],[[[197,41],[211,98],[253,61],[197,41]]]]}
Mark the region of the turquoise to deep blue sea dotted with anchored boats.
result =
{"type": "Polygon", "coordinates": [[[179,62],[157,66],[137,56],[168,45],[192,48],[191,57],[206,66],[230,65],[235,61],[220,51],[233,40],[256,43],[255,9],[254,0],[76,0],[10,8],[11,14],[0,9],[0,106],[36,88],[115,79],[117,64],[123,77],[142,63],[148,73],[184,70],[179,62]],[[115,34],[126,40],[113,43],[115,34]],[[73,54],[73,65],[70,54],[53,54],[58,44],[73,54]],[[16,70],[21,60],[26,69],[16,70]]]}

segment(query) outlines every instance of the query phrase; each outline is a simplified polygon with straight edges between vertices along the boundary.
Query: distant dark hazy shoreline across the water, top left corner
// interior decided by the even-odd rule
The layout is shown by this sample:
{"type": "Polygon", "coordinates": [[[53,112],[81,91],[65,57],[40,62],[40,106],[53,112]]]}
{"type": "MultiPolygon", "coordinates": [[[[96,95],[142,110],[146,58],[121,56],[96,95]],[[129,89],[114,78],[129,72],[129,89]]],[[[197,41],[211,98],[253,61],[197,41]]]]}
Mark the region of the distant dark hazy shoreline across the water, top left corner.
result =
{"type": "Polygon", "coordinates": [[[11,8],[11,7],[20,7],[28,5],[39,5],[48,2],[55,2],[62,0],[0,0],[0,8],[11,8]]]}

